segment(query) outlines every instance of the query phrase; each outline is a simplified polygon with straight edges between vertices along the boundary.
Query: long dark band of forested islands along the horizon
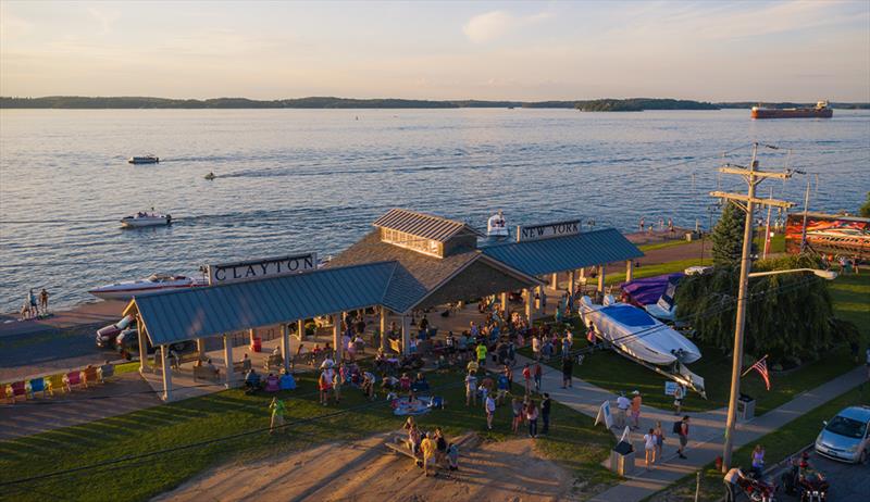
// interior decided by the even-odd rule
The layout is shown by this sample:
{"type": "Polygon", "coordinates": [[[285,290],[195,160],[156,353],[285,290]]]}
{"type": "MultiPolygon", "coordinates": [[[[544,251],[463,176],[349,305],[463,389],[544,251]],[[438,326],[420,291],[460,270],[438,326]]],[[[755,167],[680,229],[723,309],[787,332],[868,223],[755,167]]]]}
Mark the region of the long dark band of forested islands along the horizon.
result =
{"type": "MultiPolygon", "coordinates": [[[[458,108],[527,108],[576,109],[583,112],[642,112],[645,110],[719,110],[749,109],[757,102],[723,102],[629,98],[574,101],[482,101],[351,99],[311,97],[278,100],[247,98],[167,99],[147,97],[48,96],[42,98],[0,97],[0,109],[458,109],[458,108]]],[[[765,103],[770,108],[815,106],[816,103],[765,103]]],[[[870,103],[831,103],[838,109],[870,109],[870,103]]]]}

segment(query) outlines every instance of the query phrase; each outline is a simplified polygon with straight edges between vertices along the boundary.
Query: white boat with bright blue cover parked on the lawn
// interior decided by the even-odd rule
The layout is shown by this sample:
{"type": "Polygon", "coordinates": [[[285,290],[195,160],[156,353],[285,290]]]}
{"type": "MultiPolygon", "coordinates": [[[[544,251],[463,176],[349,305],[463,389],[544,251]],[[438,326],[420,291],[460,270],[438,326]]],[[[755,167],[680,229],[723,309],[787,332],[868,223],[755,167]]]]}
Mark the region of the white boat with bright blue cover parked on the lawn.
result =
{"type": "Polygon", "coordinates": [[[634,359],[659,366],[700,359],[695,343],[643,309],[617,302],[609,294],[604,305],[593,303],[589,297],[583,297],[580,305],[586,324],[593,323],[599,337],[634,359]]]}

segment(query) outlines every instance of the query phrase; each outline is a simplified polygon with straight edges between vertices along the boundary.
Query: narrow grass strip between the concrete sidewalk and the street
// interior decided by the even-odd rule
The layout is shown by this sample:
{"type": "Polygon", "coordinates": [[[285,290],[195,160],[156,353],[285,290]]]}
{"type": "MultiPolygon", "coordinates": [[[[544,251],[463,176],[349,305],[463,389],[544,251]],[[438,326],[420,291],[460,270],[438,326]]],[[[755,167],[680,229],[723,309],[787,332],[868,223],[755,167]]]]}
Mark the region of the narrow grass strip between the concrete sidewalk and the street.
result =
{"type": "MultiPolygon", "coordinates": [[[[869,387],[866,384],[863,387],[869,387]]],[[[788,455],[816,440],[822,427],[822,421],[830,419],[846,406],[856,404],[870,404],[870,389],[857,387],[838,398],[822,404],[809,413],[788,423],[784,427],[760,438],[758,441],[746,444],[734,452],[735,463],[744,466],[749,464],[749,457],[755,444],[762,444],[766,450],[765,460],[768,465],[773,465],[788,455]]],[[[691,502],[695,500],[695,475],[689,475],[675,482],[666,490],[648,497],[647,501],[654,502],[691,502]]],[[[722,474],[716,470],[713,464],[708,464],[703,469],[700,497],[705,502],[719,502],[723,495],[722,474]]]]}

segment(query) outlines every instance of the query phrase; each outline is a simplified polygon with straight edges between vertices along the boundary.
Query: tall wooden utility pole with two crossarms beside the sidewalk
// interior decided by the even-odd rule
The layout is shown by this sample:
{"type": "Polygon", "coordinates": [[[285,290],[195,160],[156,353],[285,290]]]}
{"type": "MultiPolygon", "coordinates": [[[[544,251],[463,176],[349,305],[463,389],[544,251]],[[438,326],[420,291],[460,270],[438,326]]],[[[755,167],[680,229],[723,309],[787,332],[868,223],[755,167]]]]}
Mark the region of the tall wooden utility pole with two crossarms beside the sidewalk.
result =
{"type": "Polygon", "coordinates": [[[736,174],[743,176],[746,184],[749,186],[748,194],[729,193],[722,191],[711,191],[710,196],[737,204],[738,208],[746,212],[746,226],[743,231],[743,253],[741,255],[741,283],[737,292],[737,319],[736,328],[734,330],[734,361],[731,367],[731,397],[728,402],[728,422],[725,425],[725,441],[722,451],[722,472],[726,473],[731,467],[731,449],[734,439],[734,424],[736,422],[737,412],[737,397],[741,391],[741,372],[743,369],[743,329],[746,324],[746,290],[749,285],[749,268],[751,260],[749,256],[753,244],[753,212],[755,205],[775,205],[779,208],[791,208],[793,204],[786,201],[774,199],[757,199],[755,197],[756,186],[763,181],[766,178],[788,179],[792,173],[766,173],[758,171],[758,147],[770,148],[776,150],[776,147],[770,145],[753,143],[753,161],[749,167],[741,165],[725,164],[719,168],[720,173],[736,174]]]}

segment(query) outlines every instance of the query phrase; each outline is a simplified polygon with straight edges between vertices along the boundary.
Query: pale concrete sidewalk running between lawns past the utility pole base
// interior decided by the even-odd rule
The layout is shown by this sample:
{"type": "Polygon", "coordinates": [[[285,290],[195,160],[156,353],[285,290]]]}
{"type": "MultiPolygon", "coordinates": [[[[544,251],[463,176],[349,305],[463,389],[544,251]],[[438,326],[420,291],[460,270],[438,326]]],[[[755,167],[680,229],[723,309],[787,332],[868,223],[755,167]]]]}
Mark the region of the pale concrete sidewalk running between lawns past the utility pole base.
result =
{"type": "MultiPolygon", "coordinates": [[[[520,366],[531,362],[530,359],[521,355],[517,356],[517,361],[520,366]]],[[[521,373],[514,372],[514,381],[523,386],[521,373]]],[[[866,375],[863,367],[856,367],[822,386],[803,392],[794,400],[775,410],[771,410],[760,417],[755,417],[746,423],[738,423],[734,435],[734,448],[737,449],[750,443],[804,413],[852,390],[865,381],[866,375]]],[[[608,390],[595,387],[579,378],[573,379],[572,388],[561,389],[561,373],[558,369],[545,366],[542,391],[549,392],[550,398],[593,418],[597,416],[598,409],[605,401],[610,401],[611,409],[616,410],[617,396],[608,390]]],[[[680,478],[698,470],[704,465],[712,462],[717,455],[721,455],[726,410],[720,409],[688,415],[691,416],[691,426],[688,445],[685,451],[687,459],[683,460],[676,456],[678,439],[671,432],[673,422],[676,421],[673,412],[646,405],[642,406],[641,428],[633,430],[631,435],[632,443],[637,452],[634,472],[627,476],[625,481],[599,493],[592,500],[595,502],[641,501],[680,478]],[[661,422],[664,430],[663,459],[660,459],[659,463],[655,464],[650,470],[646,470],[643,465],[642,438],[646,430],[655,427],[656,422],[661,422]]],[[[612,431],[617,438],[622,435],[622,430],[617,430],[616,427],[612,431]]]]}

